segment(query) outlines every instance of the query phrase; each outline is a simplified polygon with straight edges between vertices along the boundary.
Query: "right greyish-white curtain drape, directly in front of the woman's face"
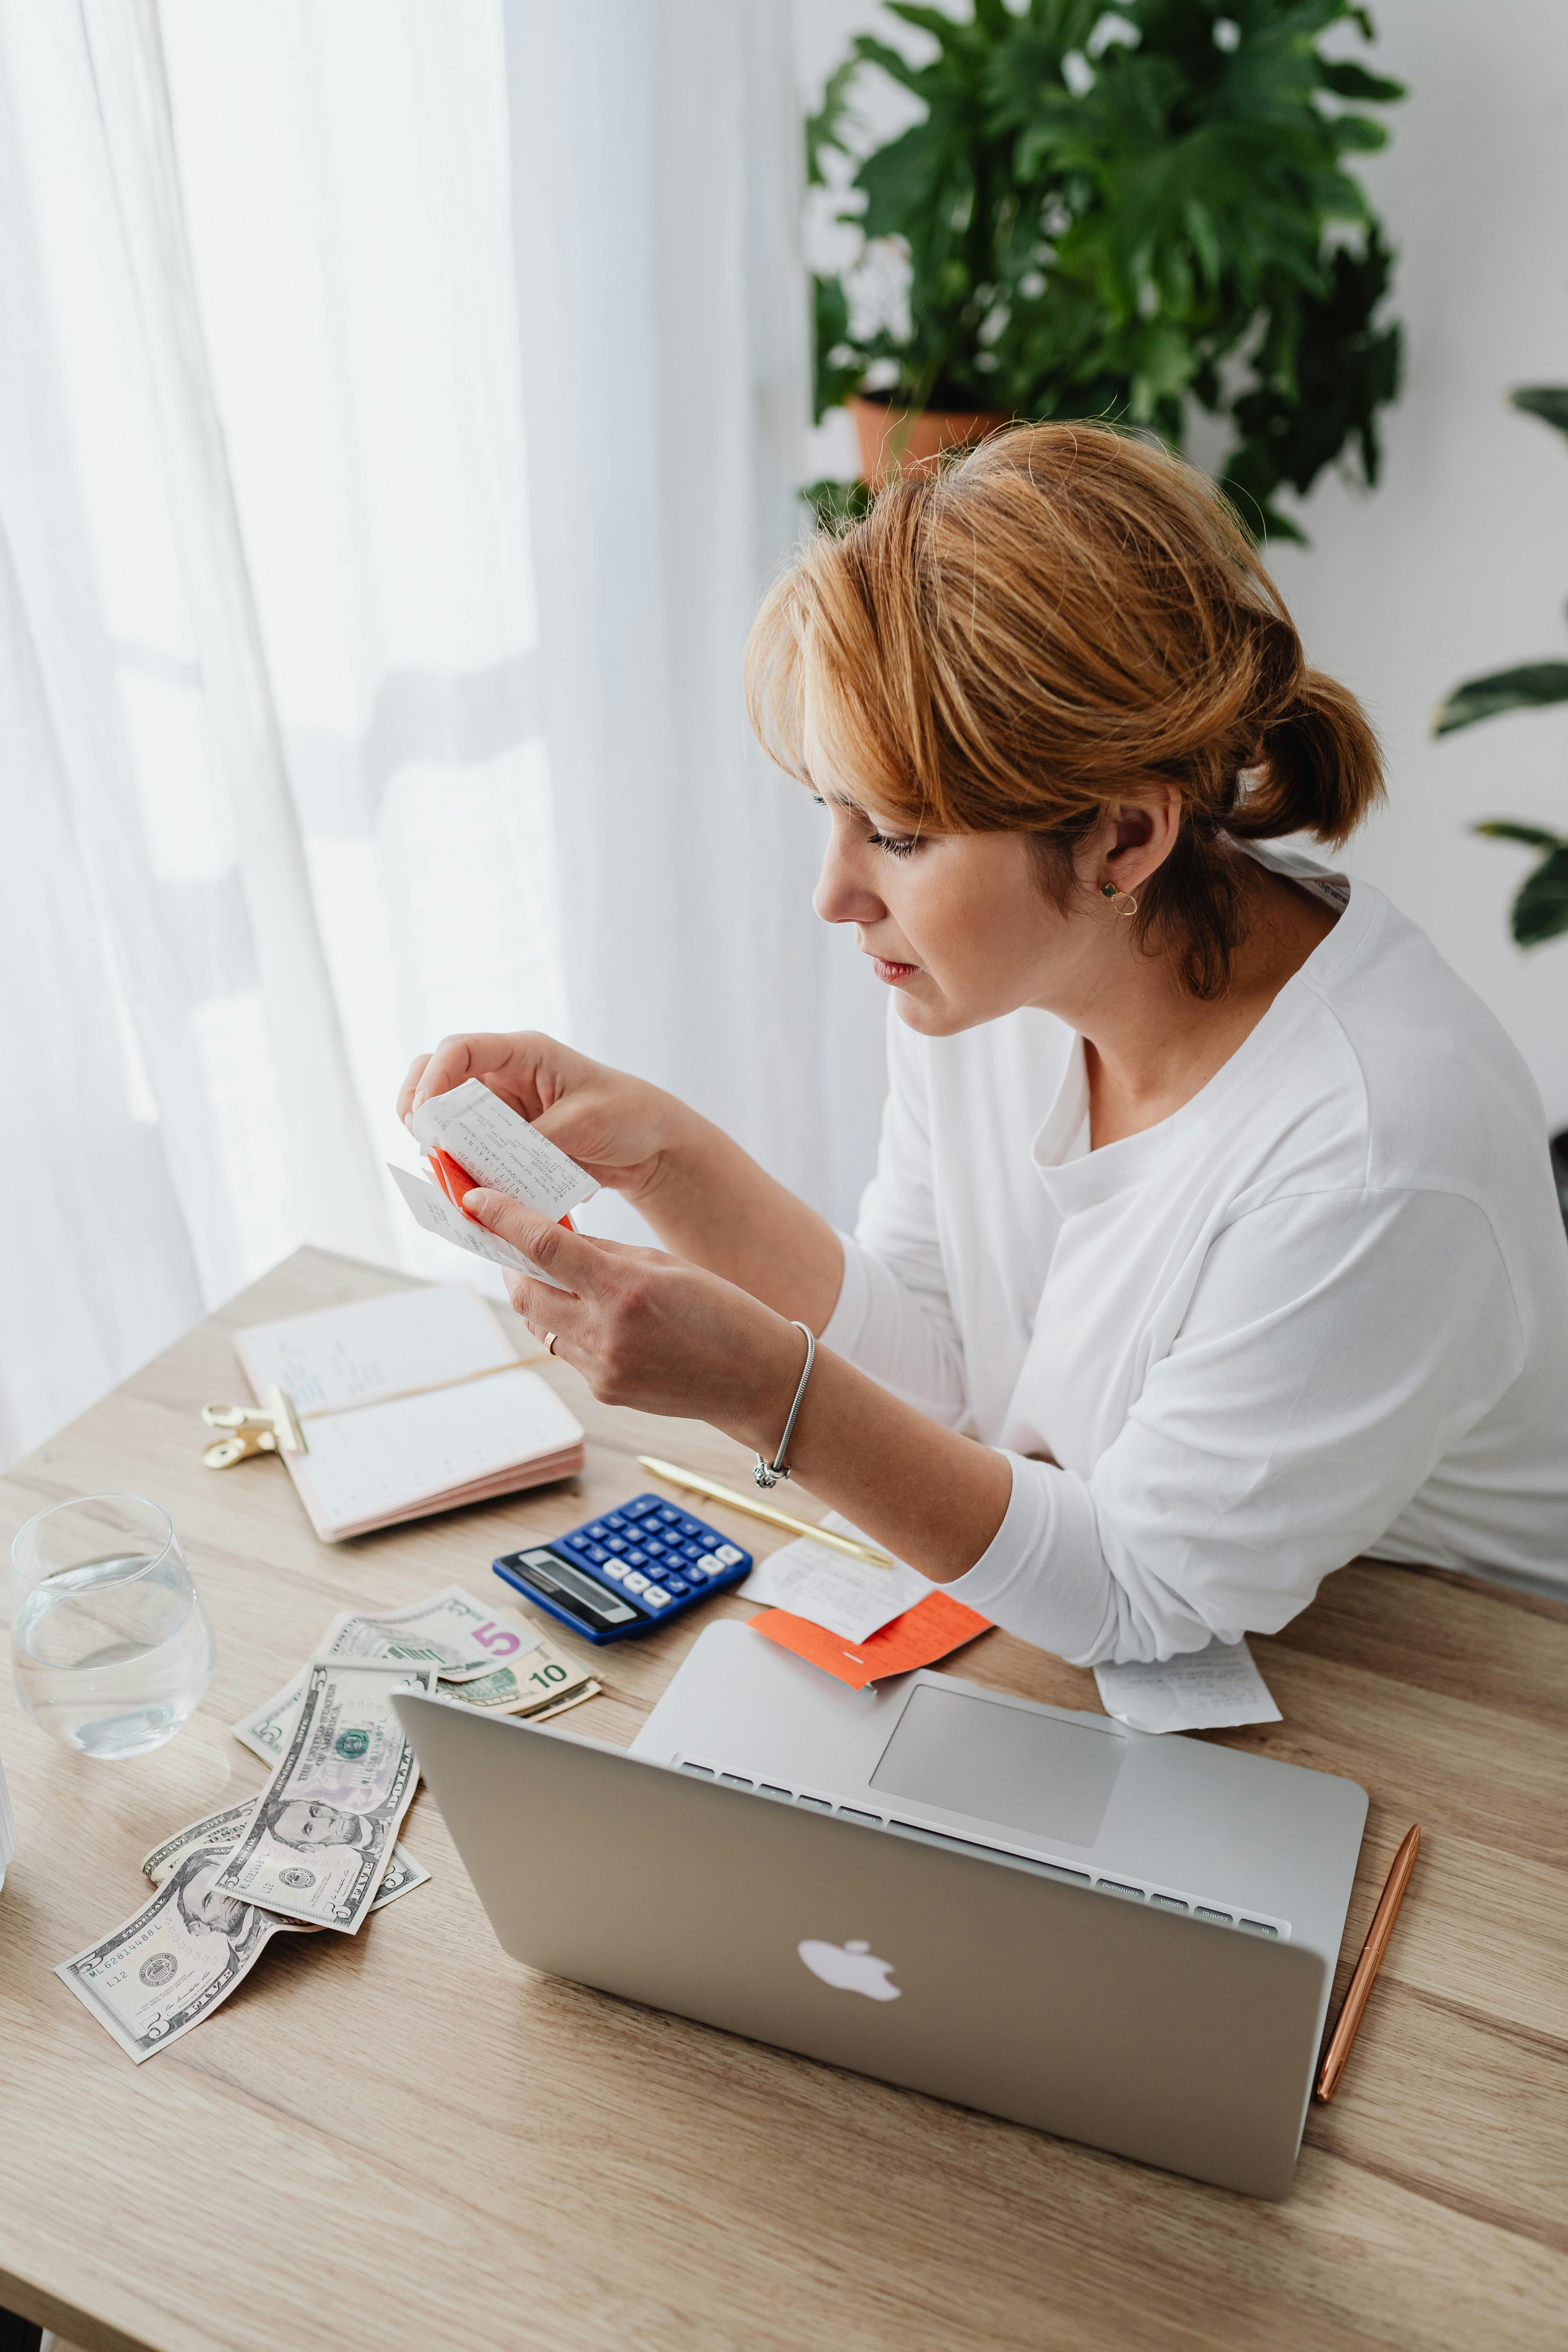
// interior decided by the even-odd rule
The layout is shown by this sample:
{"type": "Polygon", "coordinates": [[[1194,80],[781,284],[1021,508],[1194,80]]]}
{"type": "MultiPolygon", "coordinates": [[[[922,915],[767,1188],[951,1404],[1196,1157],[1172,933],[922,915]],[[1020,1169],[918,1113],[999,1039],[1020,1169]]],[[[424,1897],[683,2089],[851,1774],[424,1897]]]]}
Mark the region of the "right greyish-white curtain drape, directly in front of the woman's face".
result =
{"type": "Polygon", "coordinates": [[[820,814],[745,727],[802,529],[788,0],[508,0],[541,680],[576,1040],[846,1218],[882,1007],[811,915],[820,814]]]}

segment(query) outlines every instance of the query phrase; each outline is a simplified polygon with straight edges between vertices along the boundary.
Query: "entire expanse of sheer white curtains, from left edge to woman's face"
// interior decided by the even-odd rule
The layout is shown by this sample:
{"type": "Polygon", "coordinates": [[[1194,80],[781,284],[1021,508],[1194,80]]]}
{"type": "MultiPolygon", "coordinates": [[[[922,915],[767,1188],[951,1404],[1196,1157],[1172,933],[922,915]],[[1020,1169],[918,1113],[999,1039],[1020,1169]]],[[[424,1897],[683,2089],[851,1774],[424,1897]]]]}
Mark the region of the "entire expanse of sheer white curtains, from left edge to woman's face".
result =
{"type": "Polygon", "coordinates": [[[785,0],[0,0],[0,1458],[301,1240],[449,1275],[449,1028],[846,1214],[877,1009],[741,713],[795,158],[785,0]]]}

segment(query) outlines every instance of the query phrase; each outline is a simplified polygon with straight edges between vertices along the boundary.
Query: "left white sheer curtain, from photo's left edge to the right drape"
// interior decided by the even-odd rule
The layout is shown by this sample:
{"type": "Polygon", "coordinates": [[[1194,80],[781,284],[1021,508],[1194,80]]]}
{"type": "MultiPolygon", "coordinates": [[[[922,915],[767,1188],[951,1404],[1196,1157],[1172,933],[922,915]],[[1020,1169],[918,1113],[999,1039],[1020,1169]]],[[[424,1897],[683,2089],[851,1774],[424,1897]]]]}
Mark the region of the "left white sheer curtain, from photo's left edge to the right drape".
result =
{"type": "MultiPolygon", "coordinates": [[[[564,1025],[498,7],[0,0],[0,1458],[564,1025]]],[[[200,1399],[193,1399],[200,1402],[200,1399]]]]}

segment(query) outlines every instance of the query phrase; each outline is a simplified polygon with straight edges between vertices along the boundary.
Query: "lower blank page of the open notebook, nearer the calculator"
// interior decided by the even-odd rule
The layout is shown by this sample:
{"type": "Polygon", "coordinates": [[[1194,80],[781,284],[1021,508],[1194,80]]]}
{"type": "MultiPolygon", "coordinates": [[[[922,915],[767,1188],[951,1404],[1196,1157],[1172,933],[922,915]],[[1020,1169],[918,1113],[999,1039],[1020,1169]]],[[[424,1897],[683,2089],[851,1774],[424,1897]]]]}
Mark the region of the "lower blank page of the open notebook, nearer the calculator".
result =
{"type": "Polygon", "coordinates": [[[428,1397],[306,1421],[289,1468],[322,1526],[397,1517],[416,1503],[583,1444],[583,1425],[522,1367],[428,1397]]]}

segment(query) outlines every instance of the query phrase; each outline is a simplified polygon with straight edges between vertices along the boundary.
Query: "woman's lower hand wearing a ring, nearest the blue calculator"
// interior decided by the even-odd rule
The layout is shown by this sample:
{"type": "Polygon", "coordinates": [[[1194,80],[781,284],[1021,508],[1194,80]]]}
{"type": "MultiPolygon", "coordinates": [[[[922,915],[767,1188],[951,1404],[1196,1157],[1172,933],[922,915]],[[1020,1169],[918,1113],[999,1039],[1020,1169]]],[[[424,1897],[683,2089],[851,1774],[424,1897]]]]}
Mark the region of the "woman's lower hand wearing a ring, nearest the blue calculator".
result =
{"type": "Polygon", "coordinates": [[[508,1275],[536,1338],[574,1364],[602,1404],[710,1421],[755,1449],[778,1439],[804,1364],[799,1331],[719,1275],[536,1216],[505,1192],[463,1195],[468,1214],[567,1289],[508,1275]]]}

